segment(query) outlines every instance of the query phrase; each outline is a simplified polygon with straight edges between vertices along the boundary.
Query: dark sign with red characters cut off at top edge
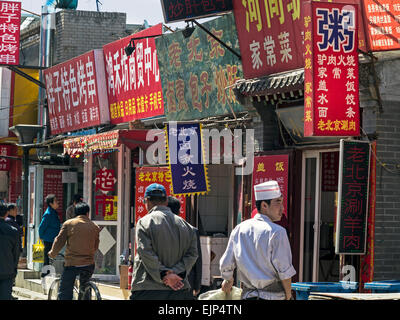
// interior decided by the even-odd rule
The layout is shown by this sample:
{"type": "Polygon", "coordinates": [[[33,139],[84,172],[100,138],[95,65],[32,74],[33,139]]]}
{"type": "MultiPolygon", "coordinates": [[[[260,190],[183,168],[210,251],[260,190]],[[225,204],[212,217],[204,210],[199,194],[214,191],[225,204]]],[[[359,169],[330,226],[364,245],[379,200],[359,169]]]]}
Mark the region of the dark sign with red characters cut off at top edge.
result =
{"type": "Polygon", "coordinates": [[[232,0],[161,0],[166,23],[200,19],[233,9],[232,0]]]}

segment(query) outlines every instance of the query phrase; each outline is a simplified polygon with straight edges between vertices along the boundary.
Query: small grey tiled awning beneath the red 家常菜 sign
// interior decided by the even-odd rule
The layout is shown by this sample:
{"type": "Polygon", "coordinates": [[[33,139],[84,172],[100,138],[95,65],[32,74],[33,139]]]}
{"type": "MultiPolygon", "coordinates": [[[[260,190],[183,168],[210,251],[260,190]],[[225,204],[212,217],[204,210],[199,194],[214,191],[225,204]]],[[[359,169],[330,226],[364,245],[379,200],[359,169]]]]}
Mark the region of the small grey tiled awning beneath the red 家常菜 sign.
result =
{"type": "Polygon", "coordinates": [[[304,69],[271,74],[263,78],[242,79],[236,82],[235,91],[243,96],[266,97],[277,100],[281,95],[302,95],[304,69]]]}

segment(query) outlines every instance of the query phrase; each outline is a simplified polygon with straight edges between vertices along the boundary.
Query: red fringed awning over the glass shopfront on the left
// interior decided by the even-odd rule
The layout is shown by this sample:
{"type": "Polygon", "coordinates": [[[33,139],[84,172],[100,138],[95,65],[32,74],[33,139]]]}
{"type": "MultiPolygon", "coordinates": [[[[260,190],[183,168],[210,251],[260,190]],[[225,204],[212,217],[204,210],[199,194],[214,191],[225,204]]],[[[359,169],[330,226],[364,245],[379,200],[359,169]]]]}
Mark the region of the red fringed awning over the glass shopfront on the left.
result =
{"type": "Polygon", "coordinates": [[[81,153],[101,152],[116,149],[124,144],[130,149],[147,149],[154,141],[146,141],[148,130],[113,130],[86,135],[64,141],[64,154],[73,156],[81,153]]]}

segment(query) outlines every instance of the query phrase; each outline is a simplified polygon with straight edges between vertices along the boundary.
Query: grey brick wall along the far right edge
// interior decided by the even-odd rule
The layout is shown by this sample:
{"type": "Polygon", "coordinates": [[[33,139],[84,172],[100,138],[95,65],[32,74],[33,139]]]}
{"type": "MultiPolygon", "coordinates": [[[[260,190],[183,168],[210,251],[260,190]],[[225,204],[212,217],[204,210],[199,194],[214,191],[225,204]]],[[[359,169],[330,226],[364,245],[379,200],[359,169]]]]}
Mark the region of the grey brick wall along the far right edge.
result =
{"type": "Polygon", "coordinates": [[[400,279],[400,60],[376,65],[383,112],[375,118],[377,134],[374,280],[400,279]]]}

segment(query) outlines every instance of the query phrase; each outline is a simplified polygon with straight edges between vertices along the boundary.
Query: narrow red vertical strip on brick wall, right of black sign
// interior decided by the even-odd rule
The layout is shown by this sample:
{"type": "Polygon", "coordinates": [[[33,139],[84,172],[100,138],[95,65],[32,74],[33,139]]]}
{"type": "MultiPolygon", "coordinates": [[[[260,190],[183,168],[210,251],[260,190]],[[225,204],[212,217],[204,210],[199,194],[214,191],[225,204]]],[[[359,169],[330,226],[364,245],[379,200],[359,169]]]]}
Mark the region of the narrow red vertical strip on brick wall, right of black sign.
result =
{"type": "Polygon", "coordinates": [[[361,256],[360,288],[364,290],[364,283],[374,280],[374,242],[375,242],[375,207],[376,207],[376,141],[371,143],[371,162],[369,176],[369,214],[367,226],[367,252],[361,256]]]}

